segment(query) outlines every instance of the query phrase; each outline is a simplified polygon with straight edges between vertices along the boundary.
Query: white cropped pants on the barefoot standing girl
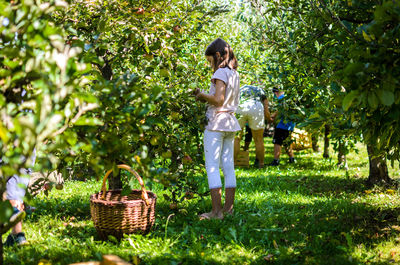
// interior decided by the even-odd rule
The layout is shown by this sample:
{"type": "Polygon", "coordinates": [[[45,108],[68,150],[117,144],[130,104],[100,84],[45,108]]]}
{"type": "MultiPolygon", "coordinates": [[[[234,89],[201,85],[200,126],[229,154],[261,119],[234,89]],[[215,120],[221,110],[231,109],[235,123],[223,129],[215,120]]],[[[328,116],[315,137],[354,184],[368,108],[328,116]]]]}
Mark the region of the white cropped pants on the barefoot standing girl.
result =
{"type": "Polygon", "coordinates": [[[221,188],[219,168],[225,177],[225,188],[236,188],[235,167],[233,163],[233,143],[235,132],[204,131],[204,154],[208,187],[221,188]]]}

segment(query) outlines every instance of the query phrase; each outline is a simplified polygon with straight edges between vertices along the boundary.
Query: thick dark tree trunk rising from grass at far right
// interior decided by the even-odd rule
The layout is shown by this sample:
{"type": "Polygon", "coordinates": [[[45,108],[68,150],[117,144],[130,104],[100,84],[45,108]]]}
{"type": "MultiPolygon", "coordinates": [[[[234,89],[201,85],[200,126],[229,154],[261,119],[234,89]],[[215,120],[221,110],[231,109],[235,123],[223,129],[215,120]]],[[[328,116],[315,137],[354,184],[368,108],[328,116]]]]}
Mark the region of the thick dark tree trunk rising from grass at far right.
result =
{"type": "Polygon", "coordinates": [[[368,144],[368,159],[369,159],[369,176],[367,182],[371,185],[379,183],[391,183],[389,172],[386,164],[386,156],[377,153],[376,148],[368,144]]]}

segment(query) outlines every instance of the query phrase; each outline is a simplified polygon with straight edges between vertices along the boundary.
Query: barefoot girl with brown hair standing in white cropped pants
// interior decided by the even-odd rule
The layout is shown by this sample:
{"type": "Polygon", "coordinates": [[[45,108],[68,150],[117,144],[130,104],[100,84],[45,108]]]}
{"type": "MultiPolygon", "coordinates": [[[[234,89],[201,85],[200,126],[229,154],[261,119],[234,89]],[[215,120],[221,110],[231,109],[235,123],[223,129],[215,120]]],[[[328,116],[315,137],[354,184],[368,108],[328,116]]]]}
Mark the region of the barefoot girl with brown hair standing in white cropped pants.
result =
{"type": "Polygon", "coordinates": [[[232,48],[224,40],[214,40],[205,56],[213,69],[208,94],[195,91],[196,99],[205,101],[208,123],[204,131],[204,153],[208,186],[211,191],[212,210],[200,215],[201,219],[222,219],[232,213],[235,199],[236,177],[233,161],[235,132],[240,131],[234,113],[239,105],[238,63],[232,48]],[[225,177],[225,205],[221,203],[221,167],[225,177]]]}

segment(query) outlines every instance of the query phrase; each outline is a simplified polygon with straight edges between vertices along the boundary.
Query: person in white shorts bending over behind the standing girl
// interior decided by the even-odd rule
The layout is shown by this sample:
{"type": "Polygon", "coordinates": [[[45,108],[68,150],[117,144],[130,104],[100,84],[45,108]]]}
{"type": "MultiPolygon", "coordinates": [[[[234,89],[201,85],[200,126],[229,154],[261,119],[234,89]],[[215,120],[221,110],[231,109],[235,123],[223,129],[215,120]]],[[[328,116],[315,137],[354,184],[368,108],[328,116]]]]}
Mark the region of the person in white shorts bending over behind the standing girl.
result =
{"type": "MultiPolygon", "coordinates": [[[[268,109],[268,99],[262,88],[257,86],[243,86],[240,88],[240,104],[237,111],[240,114],[239,124],[244,128],[248,123],[251,134],[254,138],[256,147],[256,159],[254,166],[257,168],[264,167],[264,128],[265,119],[271,121],[271,115],[268,109]]],[[[239,138],[235,141],[235,158],[240,150],[240,140],[243,131],[239,138]]]]}

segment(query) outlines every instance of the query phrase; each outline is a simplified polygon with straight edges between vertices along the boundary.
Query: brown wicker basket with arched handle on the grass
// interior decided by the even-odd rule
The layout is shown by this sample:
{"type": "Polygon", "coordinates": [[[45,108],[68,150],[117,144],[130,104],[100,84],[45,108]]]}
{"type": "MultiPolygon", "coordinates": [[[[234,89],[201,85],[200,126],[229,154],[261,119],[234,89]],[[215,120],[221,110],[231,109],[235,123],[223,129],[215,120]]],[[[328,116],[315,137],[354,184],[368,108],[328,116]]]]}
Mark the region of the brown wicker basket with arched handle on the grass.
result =
{"type": "Polygon", "coordinates": [[[90,196],[92,220],[102,239],[107,239],[109,235],[120,239],[123,234],[146,234],[155,221],[157,196],[146,191],[142,178],[131,167],[118,165],[118,168],[131,172],[142,189],[132,190],[127,196],[122,196],[121,190],[107,191],[106,181],[112,170],[107,171],[101,192],[90,196]]]}

